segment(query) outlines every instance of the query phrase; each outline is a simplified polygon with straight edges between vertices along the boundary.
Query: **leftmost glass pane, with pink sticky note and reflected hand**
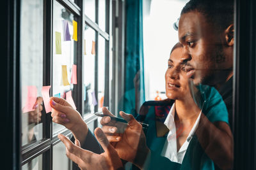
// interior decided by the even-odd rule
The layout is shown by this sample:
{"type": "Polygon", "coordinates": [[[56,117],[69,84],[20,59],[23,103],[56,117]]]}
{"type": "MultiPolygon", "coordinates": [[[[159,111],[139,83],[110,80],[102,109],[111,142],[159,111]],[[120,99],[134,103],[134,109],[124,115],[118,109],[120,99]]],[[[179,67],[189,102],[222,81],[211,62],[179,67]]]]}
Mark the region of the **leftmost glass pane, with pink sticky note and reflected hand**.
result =
{"type": "Polygon", "coordinates": [[[43,0],[21,1],[22,146],[42,139],[43,6],[43,0]]]}

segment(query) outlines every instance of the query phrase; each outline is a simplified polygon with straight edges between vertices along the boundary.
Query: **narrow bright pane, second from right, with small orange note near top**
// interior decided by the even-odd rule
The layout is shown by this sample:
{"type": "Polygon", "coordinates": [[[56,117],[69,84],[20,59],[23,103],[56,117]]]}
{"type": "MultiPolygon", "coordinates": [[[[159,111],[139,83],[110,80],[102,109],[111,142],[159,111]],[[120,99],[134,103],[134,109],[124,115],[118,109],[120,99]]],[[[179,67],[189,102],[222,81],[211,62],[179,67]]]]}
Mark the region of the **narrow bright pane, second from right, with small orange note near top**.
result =
{"type": "Polygon", "coordinates": [[[84,30],[84,114],[93,113],[95,87],[95,31],[86,25],[84,30]]]}

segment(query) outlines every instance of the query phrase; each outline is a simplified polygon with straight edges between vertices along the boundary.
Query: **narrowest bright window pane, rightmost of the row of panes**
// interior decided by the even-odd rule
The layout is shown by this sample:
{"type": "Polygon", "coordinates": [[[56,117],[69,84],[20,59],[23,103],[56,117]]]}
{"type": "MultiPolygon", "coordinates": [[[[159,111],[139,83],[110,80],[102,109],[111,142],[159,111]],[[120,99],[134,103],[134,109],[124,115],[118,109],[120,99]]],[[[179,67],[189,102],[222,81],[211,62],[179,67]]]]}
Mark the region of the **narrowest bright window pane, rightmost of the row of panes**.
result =
{"type": "Polygon", "coordinates": [[[99,62],[98,62],[98,99],[99,110],[101,110],[104,103],[104,81],[105,81],[105,39],[99,37],[99,62]]]}

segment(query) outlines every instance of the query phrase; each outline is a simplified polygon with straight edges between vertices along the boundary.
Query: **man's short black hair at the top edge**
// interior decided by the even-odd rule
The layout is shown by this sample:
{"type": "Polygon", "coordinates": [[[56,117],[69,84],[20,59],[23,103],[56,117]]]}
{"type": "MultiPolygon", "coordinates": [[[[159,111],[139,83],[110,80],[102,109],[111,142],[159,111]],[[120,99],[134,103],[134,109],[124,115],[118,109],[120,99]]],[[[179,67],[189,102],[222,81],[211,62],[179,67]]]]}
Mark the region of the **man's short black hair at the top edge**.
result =
{"type": "Polygon", "coordinates": [[[189,11],[198,11],[216,27],[223,31],[234,24],[234,0],[191,0],[182,9],[180,15],[189,11]]]}

